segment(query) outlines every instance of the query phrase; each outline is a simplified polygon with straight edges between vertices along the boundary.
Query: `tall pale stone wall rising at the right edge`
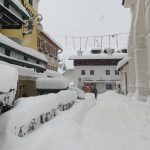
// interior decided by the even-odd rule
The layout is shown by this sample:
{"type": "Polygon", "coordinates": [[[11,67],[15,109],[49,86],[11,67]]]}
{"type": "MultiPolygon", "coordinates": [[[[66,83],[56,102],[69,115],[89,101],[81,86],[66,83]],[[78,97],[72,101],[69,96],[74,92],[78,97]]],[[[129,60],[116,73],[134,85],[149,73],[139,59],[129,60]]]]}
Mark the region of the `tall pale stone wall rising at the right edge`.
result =
{"type": "Polygon", "coordinates": [[[150,0],[123,0],[131,9],[132,22],[128,42],[129,94],[139,100],[150,94],[150,0]]]}

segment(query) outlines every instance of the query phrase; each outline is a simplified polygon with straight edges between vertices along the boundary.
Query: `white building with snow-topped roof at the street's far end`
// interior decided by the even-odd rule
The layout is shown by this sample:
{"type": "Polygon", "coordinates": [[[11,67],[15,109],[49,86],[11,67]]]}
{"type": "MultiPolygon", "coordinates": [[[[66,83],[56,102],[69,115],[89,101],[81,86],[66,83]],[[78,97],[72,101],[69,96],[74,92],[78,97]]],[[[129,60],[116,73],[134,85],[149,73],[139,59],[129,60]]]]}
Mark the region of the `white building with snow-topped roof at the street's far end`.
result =
{"type": "Polygon", "coordinates": [[[93,85],[98,93],[116,89],[116,82],[120,80],[116,66],[125,56],[125,53],[101,53],[70,57],[74,60],[75,85],[85,92],[90,92],[93,85]]]}

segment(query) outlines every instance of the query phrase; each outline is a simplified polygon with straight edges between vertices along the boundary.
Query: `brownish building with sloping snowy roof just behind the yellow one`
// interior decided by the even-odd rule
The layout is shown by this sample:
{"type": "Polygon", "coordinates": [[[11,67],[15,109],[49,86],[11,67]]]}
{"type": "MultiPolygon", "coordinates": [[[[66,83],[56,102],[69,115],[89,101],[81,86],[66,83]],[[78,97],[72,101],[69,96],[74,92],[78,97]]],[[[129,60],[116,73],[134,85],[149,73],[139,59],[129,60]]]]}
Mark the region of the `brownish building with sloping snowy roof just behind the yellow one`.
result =
{"type": "Polygon", "coordinates": [[[47,60],[47,69],[57,71],[58,70],[58,54],[62,52],[61,45],[50,37],[44,31],[38,34],[38,51],[43,53],[47,60]]]}

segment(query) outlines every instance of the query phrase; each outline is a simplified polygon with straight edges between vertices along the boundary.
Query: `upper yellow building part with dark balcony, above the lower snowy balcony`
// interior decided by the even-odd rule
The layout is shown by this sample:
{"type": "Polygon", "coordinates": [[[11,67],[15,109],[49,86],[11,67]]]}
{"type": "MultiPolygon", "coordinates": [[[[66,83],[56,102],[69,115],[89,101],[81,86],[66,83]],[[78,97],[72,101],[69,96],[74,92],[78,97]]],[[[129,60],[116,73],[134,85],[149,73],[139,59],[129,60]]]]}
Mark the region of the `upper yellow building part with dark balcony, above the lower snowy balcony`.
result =
{"type": "Polygon", "coordinates": [[[39,0],[0,0],[0,33],[37,50],[38,3],[39,0]]]}

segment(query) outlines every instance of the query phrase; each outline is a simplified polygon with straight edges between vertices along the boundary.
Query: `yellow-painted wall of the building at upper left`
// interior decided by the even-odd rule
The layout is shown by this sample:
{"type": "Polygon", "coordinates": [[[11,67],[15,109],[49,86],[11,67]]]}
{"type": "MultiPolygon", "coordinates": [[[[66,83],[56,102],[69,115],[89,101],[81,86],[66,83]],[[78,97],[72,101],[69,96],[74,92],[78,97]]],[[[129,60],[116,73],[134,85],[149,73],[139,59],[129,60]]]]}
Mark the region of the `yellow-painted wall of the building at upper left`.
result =
{"type": "Polygon", "coordinates": [[[13,39],[14,41],[16,41],[17,43],[19,43],[22,46],[26,46],[26,47],[30,47],[32,49],[37,50],[37,36],[38,36],[38,32],[37,32],[37,25],[38,25],[38,3],[39,0],[20,0],[21,4],[23,5],[23,7],[26,9],[26,11],[28,12],[29,16],[34,18],[34,22],[33,22],[33,30],[32,33],[25,35],[24,33],[26,33],[28,31],[28,21],[29,20],[24,20],[25,24],[22,25],[22,27],[20,29],[0,29],[0,33],[2,33],[3,35],[13,39]],[[33,5],[35,5],[36,2],[36,7],[34,7],[33,5]]]}

